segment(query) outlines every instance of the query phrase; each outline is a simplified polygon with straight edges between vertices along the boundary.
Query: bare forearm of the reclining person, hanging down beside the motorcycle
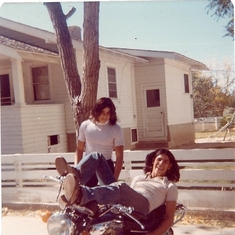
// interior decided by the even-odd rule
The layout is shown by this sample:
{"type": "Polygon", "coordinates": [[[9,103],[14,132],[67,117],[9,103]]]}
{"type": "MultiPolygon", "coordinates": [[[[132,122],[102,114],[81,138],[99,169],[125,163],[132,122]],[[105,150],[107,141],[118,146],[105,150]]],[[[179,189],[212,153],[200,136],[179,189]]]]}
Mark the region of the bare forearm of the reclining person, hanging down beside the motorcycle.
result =
{"type": "Polygon", "coordinates": [[[156,230],[151,233],[148,233],[147,235],[162,235],[164,232],[166,232],[166,230],[169,229],[174,222],[175,208],[176,201],[166,202],[165,219],[162,221],[162,223],[156,230]]]}

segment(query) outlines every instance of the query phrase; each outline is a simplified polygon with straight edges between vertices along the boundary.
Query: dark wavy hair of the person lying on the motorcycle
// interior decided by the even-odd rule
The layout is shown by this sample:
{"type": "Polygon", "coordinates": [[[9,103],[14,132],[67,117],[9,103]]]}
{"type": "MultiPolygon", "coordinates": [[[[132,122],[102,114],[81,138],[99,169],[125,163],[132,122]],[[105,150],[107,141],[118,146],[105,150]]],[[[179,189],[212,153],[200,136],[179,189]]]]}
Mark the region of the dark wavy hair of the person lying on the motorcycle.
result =
{"type": "Polygon", "coordinates": [[[178,182],[180,179],[180,172],[179,172],[179,166],[177,161],[175,160],[174,155],[167,149],[157,149],[151,153],[149,153],[145,158],[145,167],[144,167],[144,173],[151,173],[153,169],[153,162],[154,159],[161,155],[165,154],[168,156],[170,163],[172,164],[171,169],[166,172],[166,177],[173,182],[178,182]]]}

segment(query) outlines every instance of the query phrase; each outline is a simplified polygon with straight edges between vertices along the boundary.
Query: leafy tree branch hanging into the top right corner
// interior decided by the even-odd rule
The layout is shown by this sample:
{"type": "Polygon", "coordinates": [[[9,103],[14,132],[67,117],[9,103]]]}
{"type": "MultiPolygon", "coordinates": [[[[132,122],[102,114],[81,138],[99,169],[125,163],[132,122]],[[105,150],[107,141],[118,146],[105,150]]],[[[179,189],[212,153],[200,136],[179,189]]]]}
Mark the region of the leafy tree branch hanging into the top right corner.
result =
{"type": "Polygon", "coordinates": [[[224,36],[231,36],[234,39],[234,6],[231,0],[210,0],[207,6],[210,10],[215,10],[212,16],[229,17],[229,22],[225,26],[227,33],[224,36]]]}

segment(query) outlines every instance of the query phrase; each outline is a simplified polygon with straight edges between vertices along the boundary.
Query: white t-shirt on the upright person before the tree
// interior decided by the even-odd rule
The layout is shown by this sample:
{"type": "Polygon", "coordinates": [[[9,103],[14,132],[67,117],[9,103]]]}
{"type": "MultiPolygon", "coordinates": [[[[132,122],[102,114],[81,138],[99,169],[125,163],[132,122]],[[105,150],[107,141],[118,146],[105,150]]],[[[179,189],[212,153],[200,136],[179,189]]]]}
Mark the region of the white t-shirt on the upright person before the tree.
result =
{"type": "Polygon", "coordinates": [[[98,152],[106,160],[112,158],[114,147],[124,145],[123,132],[118,124],[94,123],[90,119],[82,122],[78,140],[85,142],[86,155],[98,152]]]}

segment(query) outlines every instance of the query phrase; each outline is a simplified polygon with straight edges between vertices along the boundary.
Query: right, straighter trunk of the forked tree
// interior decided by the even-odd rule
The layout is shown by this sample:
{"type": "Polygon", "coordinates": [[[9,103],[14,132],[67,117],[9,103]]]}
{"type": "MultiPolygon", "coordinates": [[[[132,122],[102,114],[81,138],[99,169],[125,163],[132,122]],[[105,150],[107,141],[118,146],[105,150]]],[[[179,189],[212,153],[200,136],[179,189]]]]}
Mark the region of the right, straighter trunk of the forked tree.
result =
{"type": "Polygon", "coordinates": [[[80,113],[81,117],[88,117],[97,99],[99,80],[99,2],[84,2],[83,49],[80,113]]]}

